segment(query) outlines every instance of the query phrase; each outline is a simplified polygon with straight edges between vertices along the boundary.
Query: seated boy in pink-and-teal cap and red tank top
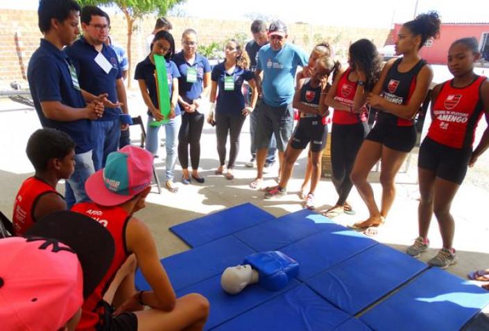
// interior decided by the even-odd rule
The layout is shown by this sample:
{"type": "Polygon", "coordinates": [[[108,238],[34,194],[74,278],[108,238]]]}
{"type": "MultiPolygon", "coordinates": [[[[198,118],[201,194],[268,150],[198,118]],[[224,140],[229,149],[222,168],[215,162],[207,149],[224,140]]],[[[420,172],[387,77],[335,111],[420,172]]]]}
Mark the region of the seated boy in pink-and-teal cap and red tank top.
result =
{"type": "Polygon", "coordinates": [[[92,202],[72,208],[105,226],[115,243],[112,264],[83,303],[77,330],[202,330],[207,321],[207,299],[200,294],[176,298],[148,227],[133,216],[145,207],[152,164],[150,152],[132,145],[110,153],[105,168],[85,184],[92,202]],[[136,265],[153,291],[136,292],[136,265]]]}

